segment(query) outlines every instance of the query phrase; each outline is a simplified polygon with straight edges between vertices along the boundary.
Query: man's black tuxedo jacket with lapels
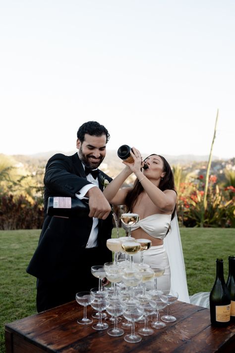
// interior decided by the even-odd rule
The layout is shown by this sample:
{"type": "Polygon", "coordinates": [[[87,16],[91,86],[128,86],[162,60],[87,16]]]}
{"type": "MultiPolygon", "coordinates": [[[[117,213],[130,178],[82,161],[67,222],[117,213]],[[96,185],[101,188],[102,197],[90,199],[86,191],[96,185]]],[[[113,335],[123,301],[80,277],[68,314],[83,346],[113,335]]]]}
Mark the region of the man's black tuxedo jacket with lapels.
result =
{"type": "MultiPolygon", "coordinates": [[[[102,191],[104,179],[112,180],[100,171],[98,180],[102,191]]],[[[46,165],[44,184],[45,219],[38,247],[26,272],[41,280],[56,282],[78,276],[78,267],[82,265],[79,263],[79,254],[82,258],[93,221],[88,216],[61,218],[47,215],[48,198],[49,196],[75,198],[75,194],[90,182],[86,179],[83,165],[77,153],[72,156],[58,153],[51,157],[46,165]]],[[[112,236],[112,228],[111,212],[105,220],[99,219],[100,264],[112,261],[112,253],[106,246],[106,240],[112,236]]]]}

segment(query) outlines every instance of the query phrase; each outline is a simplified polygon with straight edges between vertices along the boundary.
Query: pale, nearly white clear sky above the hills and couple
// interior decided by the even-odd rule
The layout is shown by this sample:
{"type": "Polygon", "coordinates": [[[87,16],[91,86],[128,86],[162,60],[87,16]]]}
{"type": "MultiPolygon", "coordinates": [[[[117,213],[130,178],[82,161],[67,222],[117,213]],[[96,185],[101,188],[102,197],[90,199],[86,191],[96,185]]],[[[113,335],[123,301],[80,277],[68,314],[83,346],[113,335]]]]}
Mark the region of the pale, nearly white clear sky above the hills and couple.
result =
{"type": "Polygon", "coordinates": [[[0,0],[0,153],[235,156],[234,0],[0,0]]]}

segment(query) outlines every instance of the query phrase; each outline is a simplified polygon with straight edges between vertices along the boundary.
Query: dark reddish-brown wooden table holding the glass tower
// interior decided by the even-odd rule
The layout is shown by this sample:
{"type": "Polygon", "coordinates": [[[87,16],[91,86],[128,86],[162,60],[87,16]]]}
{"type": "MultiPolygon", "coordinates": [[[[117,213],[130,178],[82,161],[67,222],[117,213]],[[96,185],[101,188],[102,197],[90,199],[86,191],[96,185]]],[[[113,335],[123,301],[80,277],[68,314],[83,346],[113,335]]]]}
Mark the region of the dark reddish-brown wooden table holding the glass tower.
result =
{"type": "MultiPolygon", "coordinates": [[[[89,306],[88,317],[92,310],[89,306]]],[[[123,336],[109,336],[107,330],[96,331],[91,325],[78,325],[76,319],[83,316],[83,307],[72,301],[7,324],[6,352],[235,352],[235,324],[227,328],[212,327],[208,309],[181,301],[172,304],[171,313],[176,316],[176,322],[154,330],[152,336],[142,336],[139,343],[130,344],[123,336]]]]}

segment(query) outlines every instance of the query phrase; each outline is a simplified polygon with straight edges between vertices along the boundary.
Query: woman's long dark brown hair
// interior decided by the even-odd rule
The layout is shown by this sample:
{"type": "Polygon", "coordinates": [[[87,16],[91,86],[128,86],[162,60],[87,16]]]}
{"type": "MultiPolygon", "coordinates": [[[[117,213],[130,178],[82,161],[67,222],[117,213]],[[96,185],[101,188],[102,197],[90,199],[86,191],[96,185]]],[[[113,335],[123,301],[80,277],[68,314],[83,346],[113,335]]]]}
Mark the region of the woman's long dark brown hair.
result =
{"type": "MultiPolygon", "coordinates": [[[[149,158],[150,156],[153,155],[157,155],[159,156],[162,161],[163,161],[163,171],[166,173],[164,178],[162,178],[160,180],[160,184],[159,184],[159,189],[164,191],[164,190],[175,190],[175,182],[174,182],[174,175],[171,169],[170,164],[168,163],[168,161],[166,160],[166,158],[164,158],[163,156],[161,156],[160,154],[150,154],[148,157],[146,157],[144,160],[146,160],[147,158],[149,158]]],[[[128,194],[126,195],[125,198],[125,205],[126,205],[126,212],[132,212],[134,205],[136,203],[137,197],[143,192],[144,188],[142,187],[141,183],[139,183],[139,180],[136,179],[134,182],[134,186],[133,189],[131,189],[128,194]]],[[[172,212],[172,219],[174,218],[176,213],[176,206],[174,211],[172,212]]]]}

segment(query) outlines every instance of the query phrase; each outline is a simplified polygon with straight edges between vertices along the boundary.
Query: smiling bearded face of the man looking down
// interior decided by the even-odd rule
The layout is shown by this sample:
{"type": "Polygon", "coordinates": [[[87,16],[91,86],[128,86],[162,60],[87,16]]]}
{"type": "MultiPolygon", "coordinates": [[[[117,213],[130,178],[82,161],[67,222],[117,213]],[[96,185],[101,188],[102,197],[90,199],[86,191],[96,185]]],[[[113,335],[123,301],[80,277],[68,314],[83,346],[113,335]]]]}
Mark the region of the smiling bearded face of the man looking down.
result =
{"type": "Polygon", "coordinates": [[[77,139],[77,148],[79,158],[86,167],[98,168],[106,155],[106,135],[98,137],[85,134],[82,143],[77,139]]]}

